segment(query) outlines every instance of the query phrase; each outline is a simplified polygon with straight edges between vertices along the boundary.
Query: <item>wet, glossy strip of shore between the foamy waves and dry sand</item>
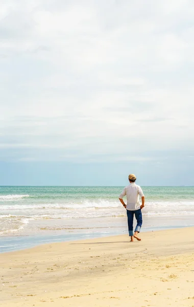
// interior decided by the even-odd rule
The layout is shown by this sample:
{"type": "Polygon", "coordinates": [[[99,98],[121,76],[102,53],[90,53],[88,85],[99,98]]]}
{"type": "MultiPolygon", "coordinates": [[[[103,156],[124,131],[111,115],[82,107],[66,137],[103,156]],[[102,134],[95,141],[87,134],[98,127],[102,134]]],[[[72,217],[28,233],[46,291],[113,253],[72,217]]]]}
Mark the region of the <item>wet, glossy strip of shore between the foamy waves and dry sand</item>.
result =
{"type": "MultiPolygon", "coordinates": [[[[143,216],[141,232],[194,226],[192,215],[143,216]]],[[[126,217],[31,220],[23,229],[0,236],[0,254],[46,243],[127,234],[126,217]]]]}

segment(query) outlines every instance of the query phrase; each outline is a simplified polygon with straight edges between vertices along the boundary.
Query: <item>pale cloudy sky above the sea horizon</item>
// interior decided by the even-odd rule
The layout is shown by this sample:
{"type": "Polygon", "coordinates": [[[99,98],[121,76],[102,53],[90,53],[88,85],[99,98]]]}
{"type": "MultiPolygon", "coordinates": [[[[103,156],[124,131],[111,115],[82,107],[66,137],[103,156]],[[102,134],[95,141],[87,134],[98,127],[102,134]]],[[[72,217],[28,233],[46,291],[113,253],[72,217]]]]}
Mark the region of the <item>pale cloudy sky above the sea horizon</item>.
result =
{"type": "Polygon", "coordinates": [[[0,185],[194,185],[192,0],[1,0],[0,185]]]}

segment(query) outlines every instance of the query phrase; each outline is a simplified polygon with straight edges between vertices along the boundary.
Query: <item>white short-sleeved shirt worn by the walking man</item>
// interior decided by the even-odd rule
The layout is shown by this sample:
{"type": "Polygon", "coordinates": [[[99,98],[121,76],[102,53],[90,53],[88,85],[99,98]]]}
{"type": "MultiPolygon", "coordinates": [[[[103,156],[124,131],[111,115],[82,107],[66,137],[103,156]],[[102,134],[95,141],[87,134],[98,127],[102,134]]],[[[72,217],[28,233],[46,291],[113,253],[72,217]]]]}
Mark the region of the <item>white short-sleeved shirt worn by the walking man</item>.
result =
{"type": "Polygon", "coordinates": [[[127,210],[138,210],[140,208],[139,195],[144,196],[140,186],[134,182],[124,188],[123,192],[119,195],[119,199],[123,199],[127,195],[127,210]]]}

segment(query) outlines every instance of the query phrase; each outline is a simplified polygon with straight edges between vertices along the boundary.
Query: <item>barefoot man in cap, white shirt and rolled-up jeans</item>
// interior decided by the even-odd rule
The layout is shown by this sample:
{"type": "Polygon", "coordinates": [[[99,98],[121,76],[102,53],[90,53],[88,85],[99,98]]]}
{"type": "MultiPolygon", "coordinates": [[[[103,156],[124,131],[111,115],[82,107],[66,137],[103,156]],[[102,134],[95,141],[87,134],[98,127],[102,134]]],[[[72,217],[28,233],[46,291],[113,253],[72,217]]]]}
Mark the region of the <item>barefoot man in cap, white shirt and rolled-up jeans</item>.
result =
{"type": "Polygon", "coordinates": [[[127,209],[127,218],[128,218],[128,229],[129,236],[131,236],[131,242],[134,241],[133,238],[136,238],[138,241],[141,239],[138,237],[142,225],[142,214],[141,209],[144,207],[145,198],[143,191],[140,186],[135,184],[136,176],[134,174],[129,175],[130,185],[124,188],[123,192],[119,195],[119,201],[127,209]],[[124,203],[123,198],[127,195],[127,205],[124,203]],[[141,196],[141,205],[139,202],[139,195],[141,196]],[[133,234],[133,216],[137,220],[137,226],[135,228],[135,233],[133,234]]]}

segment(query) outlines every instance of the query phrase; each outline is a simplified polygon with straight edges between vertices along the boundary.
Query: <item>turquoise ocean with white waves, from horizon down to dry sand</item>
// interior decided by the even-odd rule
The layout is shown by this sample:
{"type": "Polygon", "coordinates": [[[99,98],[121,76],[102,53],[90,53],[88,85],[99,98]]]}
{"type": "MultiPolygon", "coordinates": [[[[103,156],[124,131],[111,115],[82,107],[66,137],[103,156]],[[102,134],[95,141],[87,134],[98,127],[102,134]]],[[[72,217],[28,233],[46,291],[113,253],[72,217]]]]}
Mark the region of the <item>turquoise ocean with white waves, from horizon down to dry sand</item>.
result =
{"type": "MultiPolygon", "coordinates": [[[[194,187],[142,187],[142,231],[194,226],[194,187]]],[[[127,233],[123,187],[0,187],[0,251],[127,233]]]]}

